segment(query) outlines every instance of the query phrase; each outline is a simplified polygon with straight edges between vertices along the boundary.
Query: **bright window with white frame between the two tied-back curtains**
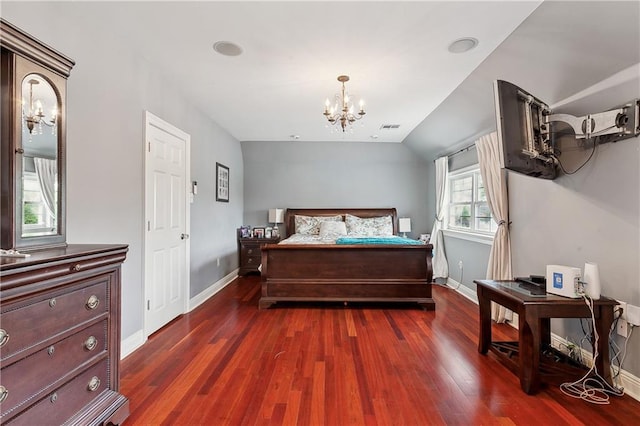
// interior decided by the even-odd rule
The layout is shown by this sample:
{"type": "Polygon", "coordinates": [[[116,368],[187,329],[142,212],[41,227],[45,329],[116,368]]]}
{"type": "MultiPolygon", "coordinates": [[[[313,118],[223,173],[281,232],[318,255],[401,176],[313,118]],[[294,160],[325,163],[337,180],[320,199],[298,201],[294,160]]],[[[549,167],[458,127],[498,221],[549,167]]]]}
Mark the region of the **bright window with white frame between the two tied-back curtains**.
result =
{"type": "Polygon", "coordinates": [[[493,220],[478,166],[449,173],[447,228],[477,234],[494,234],[493,220]]]}

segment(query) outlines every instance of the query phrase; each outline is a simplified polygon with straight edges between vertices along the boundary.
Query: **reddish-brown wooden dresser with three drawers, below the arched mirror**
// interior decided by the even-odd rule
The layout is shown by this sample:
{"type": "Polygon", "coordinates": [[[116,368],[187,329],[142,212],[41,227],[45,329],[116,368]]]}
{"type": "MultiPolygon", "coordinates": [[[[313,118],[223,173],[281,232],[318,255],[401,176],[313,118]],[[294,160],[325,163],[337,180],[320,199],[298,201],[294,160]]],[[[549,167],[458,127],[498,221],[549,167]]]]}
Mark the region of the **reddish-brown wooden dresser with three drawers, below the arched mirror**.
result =
{"type": "Polygon", "coordinates": [[[120,424],[120,267],[126,245],[0,259],[0,423],[120,424]]]}

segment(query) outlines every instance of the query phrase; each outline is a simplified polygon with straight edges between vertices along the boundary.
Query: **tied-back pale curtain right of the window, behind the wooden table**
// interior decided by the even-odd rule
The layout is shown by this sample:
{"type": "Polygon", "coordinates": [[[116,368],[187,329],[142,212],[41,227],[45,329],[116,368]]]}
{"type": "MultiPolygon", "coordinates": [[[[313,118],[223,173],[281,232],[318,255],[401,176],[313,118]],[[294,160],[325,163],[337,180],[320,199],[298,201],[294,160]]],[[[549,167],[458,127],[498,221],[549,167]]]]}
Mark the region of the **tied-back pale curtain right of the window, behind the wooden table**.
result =
{"type": "MultiPolygon", "coordinates": [[[[498,230],[493,238],[487,279],[510,280],[511,240],[509,238],[509,197],[507,194],[507,172],[500,168],[500,141],[496,132],[476,141],[480,174],[484,182],[487,201],[498,230]]],[[[511,320],[512,312],[496,303],[491,305],[491,317],[496,322],[511,320]]]]}

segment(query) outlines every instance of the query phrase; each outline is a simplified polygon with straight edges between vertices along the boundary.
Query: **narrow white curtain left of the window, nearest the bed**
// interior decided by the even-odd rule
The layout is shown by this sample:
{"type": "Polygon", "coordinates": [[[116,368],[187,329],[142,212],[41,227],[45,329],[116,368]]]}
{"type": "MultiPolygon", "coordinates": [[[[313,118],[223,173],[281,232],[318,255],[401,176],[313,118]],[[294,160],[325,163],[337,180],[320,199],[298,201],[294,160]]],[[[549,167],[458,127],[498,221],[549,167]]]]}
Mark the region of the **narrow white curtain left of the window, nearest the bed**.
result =
{"type": "Polygon", "coordinates": [[[442,235],[442,223],[446,210],[445,199],[447,195],[449,174],[449,157],[440,157],[436,160],[436,218],[431,230],[431,244],[433,244],[433,278],[449,277],[449,264],[444,252],[444,237],[442,235]]]}

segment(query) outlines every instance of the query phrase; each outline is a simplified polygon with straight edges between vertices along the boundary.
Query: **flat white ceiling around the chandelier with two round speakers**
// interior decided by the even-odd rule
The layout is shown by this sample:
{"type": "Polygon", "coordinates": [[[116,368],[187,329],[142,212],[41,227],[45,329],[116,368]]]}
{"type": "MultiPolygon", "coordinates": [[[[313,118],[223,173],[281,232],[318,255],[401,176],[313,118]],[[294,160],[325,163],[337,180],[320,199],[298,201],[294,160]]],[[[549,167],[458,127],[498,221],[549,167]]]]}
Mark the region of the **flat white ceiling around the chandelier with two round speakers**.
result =
{"type": "Polygon", "coordinates": [[[114,2],[82,16],[112,22],[120,42],[239,141],[402,142],[539,4],[114,2]],[[479,44],[450,53],[462,37],[479,44]],[[221,40],[243,53],[214,52],[221,40]],[[353,133],[332,133],[322,115],[341,74],[366,103],[353,133]]]}

